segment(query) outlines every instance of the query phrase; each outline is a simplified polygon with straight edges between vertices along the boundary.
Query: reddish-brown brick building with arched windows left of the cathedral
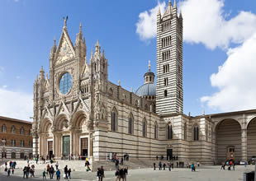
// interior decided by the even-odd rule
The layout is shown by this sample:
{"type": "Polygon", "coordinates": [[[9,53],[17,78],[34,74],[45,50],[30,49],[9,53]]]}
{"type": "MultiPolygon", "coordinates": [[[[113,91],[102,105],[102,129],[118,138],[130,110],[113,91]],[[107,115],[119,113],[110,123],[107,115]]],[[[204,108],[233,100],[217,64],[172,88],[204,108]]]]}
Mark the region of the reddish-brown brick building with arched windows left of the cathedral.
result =
{"type": "Polygon", "coordinates": [[[1,158],[23,159],[32,156],[31,122],[0,116],[1,158]]]}

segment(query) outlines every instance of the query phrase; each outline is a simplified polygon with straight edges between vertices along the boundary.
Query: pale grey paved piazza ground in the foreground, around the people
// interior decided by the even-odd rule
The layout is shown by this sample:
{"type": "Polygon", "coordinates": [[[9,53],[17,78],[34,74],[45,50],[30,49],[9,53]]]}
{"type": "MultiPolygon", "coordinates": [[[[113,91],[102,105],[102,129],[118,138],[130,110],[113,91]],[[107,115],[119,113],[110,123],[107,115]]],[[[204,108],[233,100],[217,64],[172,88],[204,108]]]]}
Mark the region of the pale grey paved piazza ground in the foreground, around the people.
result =
{"type": "MultiPolygon", "coordinates": [[[[204,168],[197,169],[197,172],[191,172],[191,169],[173,169],[171,172],[168,170],[153,170],[153,169],[131,169],[127,180],[197,180],[197,181],[233,181],[243,180],[243,173],[254,170],[254,166],[249,165],[244,168],[243,165],[238,165],[234,170],[220,170],[220,166],[207,166],[204,168]]],[[[42,170],[36,170],[36,179],[42,179],[42,170]]],[[[63,175],[64,171],[61,171],[63,175]]],[[[3,174],[1,168],[0,180],[21,180],[21,169],[17,169],[15,175],[18,177],[9,177],[3,174]]],[[[115,180],[114,171],[105,171],[104,180],[115,180]]],[[[97,180],[96,172],[72,172],[72,180],[97,180]]],[[[47,178],[49,179],[49,177],[47,178]]],[[[64,178],[61,178],[64,180],[64,178]]]]}

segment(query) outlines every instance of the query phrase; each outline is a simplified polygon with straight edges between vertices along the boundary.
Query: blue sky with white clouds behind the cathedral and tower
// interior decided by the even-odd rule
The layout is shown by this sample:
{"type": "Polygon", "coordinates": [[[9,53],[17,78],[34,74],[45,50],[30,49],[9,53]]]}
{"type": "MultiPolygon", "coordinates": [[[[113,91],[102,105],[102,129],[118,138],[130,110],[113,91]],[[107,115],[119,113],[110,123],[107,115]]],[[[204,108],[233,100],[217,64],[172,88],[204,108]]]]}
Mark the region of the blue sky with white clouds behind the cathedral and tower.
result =
{"type": "MultiPolygon", "coordinates": [[[[256,87],[249,86],[250,92],[247,94],[244,90],[239,90],[241,86],[244,88],[243,83],[236,84],[236,81],[230,81],[234,80],[232,77],[236,74],[244,77],[238,82],[254,81],[256,77],[254,72],[249,75],[243,73],[249,72],[251,66],[244,67],[243,72],[238,71],[234,76],[226,71],[236,70],[236,67],[228,67],[227,64],[234,65],[236,60],[237,64],[241,63],[241,59],[234,57],[239,57],[241,52],[244,53],[243,47],[246,42],[249,47],[255,46],[252,37],[256,33],[256,2],[254,0],[177,2],[178,9],[183,10],[184,24],[186,23],[184,31],[187,31],[183,44],[184,113],[191,112],[192,115],[197,115],[205,109],[206,114],[213,114],[256,108],[254,106],[256,87]],[[197,7],[194,11],[198,13],[192,12],[194,7],[197,7]],[[208,12],[210,17],[201,16],[208,12]],[[191,20],[190,16],[193,17],[193,24],[192,21],[186,21],[191,20]],[[207,22],[216,26],[209,26],[205,30],[207,22]],[[218,34],[220,31],[222,33],[218,34]],[[222,71],[219,66],[223,66],[222,71]],[[214,73],[216,77],[211,80],[210,77],[214,73]],[[223,80],[226,81],[221,82],[223,80]],[[237,97],[242,96],[241,92],[248,95],[246,99],[237,97]],[[230,95],[230,98],[225,100],[223,94],[230,95]]],[[[130,87],[136,90],[144,82],[143,75],[147,71],[148,60],[151,60],[152,71],[155,72],[156,66],[154,33],[142,39],[141,34],[146,32],[137,31],[138,23],[141,22],[140,26],[145,26],[147,23],[150,25],[152,22],[143,20],[146,13],[154,17],[154,13],[150,14],[150,10],[159,5],[164,8],[167,3],[156,0],[1,0],[0,114],[26,120],[32,116],[33,82],[40,66],[44,66],[46,72],[49,70],[50,47],[54,43],[54,37],[59,42],[63,16],[69,16],[68,31],[73,42],[79,30],[79,23],[82,22],[88,57],[99,39],[109,61],[110,81],[117,84],[117,81],[121,80],[121,86],[127,90],[130,90],[130,87]]],[[[154,29],[154,25],[151,29],[154,29]]],[[[152,31],[151,29],[149,32],[152,31]]],[[[248,63],[251,63],[249,61],[252,61],[253,55],[247,58],[248,63]]],[[[245,59],[243,61],[246,62],[245,59]]],[[[237,66],[241,67],[240,65],[243,66],[244,63],[237,66]]]]}

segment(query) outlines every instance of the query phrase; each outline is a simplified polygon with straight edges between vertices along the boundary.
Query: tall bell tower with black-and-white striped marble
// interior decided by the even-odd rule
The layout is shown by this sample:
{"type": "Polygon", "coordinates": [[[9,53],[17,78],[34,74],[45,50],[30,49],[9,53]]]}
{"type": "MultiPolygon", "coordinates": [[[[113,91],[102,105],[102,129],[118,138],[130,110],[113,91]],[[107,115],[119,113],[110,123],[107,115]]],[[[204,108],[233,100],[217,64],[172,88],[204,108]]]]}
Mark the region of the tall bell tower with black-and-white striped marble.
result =
{"type": "Polygon", "coordinates": [[[183,113],[183,16],[176,0],[157,14],[156,113],[183,113]]]}

